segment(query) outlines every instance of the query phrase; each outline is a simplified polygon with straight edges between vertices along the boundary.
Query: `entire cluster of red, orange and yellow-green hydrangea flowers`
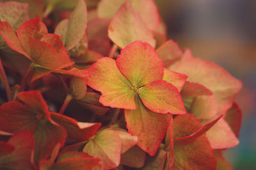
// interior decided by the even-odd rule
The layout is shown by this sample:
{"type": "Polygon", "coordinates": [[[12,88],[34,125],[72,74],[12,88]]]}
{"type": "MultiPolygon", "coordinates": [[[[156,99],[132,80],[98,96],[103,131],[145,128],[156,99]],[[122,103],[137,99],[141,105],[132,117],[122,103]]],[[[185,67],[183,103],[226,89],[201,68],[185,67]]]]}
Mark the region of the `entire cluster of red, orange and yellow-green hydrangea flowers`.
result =
{"type": "Polygon", "coordinates": [[[241,82],[154,0],[0,2],[0,169],[232,169],[241,82]]]}

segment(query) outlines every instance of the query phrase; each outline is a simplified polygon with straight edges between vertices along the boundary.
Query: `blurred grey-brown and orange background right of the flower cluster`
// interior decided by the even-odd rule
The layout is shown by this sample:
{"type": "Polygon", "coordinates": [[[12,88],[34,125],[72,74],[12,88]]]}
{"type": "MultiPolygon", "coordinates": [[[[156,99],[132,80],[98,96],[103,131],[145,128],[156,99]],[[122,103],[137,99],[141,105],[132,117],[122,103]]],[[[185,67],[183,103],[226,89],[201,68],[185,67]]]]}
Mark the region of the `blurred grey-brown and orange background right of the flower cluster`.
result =
{"type": "Polygon", "coordinates": [[[234,169],[256,169],[256,1],[156,0],[168,38],[243,82],[240,144],[225,152],[234,169]]]}

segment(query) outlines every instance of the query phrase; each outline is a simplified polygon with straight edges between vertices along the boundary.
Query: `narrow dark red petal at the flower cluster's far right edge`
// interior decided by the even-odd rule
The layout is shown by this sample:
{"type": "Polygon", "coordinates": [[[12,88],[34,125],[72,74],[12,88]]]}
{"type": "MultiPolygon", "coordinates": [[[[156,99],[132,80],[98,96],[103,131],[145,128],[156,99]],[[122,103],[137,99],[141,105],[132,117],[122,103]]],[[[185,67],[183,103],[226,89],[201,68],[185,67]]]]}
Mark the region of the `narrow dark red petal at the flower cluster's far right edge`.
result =
{"type": "Polygon", "coordinates": [[[239,105],[233,103],[232,107],[228,109],[225,115],[225,121],[227,121],[229,127],[236,134],[236,137],[239,137],[239,130],[242,123],[242,111],[239,108],[239,105]]]}

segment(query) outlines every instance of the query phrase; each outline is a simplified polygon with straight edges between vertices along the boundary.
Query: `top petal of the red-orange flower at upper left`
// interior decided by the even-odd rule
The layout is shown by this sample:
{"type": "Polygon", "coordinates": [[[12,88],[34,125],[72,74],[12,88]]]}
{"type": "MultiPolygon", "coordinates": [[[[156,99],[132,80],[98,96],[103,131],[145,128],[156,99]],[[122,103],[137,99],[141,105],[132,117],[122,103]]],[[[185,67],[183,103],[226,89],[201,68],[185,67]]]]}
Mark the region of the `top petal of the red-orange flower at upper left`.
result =
{"type": "Polygon", "coordinates": [[[17,30],[17,36],[26,50],[29,49],[29,45],[27,44],[29,38],[40,40],[47,33],[47,27],[44,22],[39,20],[39,17],[24,22],[17,30]]]}

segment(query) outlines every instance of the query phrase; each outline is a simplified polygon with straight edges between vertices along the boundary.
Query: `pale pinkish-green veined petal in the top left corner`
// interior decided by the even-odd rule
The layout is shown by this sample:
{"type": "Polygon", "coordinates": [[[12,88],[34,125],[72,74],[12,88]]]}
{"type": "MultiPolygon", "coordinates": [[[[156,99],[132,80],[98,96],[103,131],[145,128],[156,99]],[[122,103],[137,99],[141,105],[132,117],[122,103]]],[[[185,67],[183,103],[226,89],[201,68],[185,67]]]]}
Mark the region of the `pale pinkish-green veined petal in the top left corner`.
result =
{"type": "Polygon", "coordinates": [[[21,24],[29,20],[29,5],[15,1],[0,2],[0,20],[8,22],[17,30],[21,24]]]}

